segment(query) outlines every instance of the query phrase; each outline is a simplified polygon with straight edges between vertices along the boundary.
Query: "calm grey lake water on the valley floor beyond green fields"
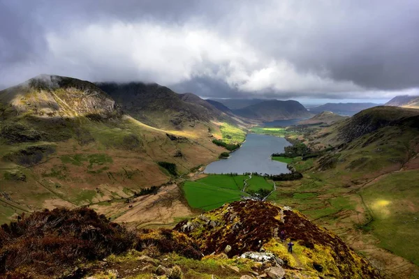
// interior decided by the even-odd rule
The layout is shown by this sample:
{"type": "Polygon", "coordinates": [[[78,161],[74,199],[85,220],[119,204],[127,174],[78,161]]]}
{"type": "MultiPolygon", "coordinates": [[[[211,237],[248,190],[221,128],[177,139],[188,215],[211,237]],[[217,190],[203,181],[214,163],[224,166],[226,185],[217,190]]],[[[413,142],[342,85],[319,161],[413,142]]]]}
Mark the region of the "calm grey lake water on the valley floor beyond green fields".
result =
{"type": "Polygon", "coordinates": [[[262,174],[288,173],[286,163],[271,160],[272,153],[281,153],[284,147],[291,145],[282,137],[249,134],[242,147],[226,160],[212,162],[205,169],[206,174],[228,174],[237,172],[258,172],[262,174]]]}

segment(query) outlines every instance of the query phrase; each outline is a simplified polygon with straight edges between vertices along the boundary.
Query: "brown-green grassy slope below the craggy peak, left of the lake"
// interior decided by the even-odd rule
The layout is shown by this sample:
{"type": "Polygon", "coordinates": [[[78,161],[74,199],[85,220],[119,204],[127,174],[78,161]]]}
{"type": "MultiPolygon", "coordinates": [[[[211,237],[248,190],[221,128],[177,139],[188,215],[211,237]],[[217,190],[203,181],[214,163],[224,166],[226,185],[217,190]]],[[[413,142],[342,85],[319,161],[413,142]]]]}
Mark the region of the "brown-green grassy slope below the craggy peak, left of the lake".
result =
{"type": "Polygon", "coordinates": [[[0,123],[0,129],[6,126],[17,137],[40,134],[41,141],[1,138],[0,223],[16,213],[45,207],[119,202],[172,179],[159,161],[175,163],[182,175],[216,160],[223,151],[212,144],[207,126],[200,123],[191,129],[165,131],[128,116],[112,121],[24,116],[0,123]]]}

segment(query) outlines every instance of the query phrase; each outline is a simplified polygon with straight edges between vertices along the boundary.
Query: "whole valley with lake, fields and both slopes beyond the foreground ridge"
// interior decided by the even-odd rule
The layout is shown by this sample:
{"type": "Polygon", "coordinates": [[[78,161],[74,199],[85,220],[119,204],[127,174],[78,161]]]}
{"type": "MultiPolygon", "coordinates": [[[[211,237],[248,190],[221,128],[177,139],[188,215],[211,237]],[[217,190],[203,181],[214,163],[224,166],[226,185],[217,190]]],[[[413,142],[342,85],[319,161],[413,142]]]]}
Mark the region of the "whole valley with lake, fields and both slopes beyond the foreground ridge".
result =
{"type": "Polygon", "coordinates": [[[419,274],[416,110],[303,112],[263,124],[279,114],[249,115],[266,101],[238,116],[158,84],[58,76],[0,91],[0,100],[0,223],[89,207],[126,227],[172,228],[267,199],[335,232],[385,278],[419,274]],[[302,153],[282,153],[291,143],[302,153]]]}

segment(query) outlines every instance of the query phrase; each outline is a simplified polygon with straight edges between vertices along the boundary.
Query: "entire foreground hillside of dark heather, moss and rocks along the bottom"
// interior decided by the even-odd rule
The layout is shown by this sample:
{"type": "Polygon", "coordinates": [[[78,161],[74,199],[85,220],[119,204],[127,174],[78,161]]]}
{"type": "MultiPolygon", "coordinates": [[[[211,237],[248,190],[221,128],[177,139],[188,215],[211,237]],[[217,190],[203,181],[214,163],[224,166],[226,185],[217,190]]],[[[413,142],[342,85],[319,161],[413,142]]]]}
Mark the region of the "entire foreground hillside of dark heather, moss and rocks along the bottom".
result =
{"type": "Polygon", "coordinates": [[[87,208],[21,216],[0,228],[0,277],[381,278],[332,232],[265,202],[225,204],[176,229],[128,230],[87,208]]]}

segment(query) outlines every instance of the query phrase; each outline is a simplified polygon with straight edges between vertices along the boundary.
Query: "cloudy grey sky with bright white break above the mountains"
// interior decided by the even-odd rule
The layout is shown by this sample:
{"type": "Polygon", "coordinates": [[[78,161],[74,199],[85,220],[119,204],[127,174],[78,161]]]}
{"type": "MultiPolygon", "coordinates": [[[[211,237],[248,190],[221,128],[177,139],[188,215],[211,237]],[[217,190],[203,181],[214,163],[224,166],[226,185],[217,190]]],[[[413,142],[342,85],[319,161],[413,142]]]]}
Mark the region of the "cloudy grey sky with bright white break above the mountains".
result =
{"type": "Polygon", "coordinates": [[[419,94],[418,27],[417,0],[0,0],[0,89],[52,74],[385,103],[419,94]]]}

